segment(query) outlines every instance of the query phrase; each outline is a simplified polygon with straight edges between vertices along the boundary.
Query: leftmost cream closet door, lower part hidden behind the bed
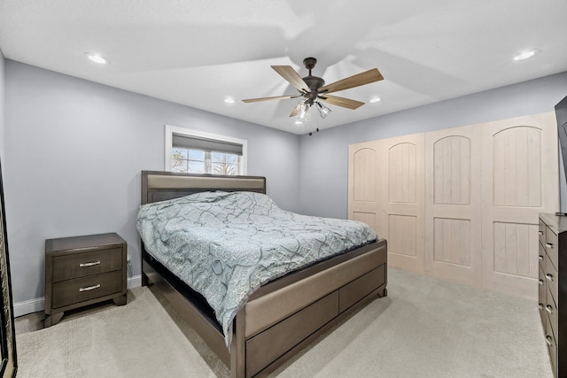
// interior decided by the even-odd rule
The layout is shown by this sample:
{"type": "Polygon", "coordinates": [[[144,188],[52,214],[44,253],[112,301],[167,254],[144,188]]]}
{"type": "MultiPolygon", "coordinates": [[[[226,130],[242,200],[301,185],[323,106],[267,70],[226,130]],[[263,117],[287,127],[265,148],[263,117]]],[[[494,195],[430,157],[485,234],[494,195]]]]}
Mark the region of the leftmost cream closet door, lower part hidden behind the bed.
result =
{"type": "Polygon", "coordinates": [[[377,142],[348,146],[348,219],[360,220],[380,233],[377,220],[379,175],[377,142]]]}

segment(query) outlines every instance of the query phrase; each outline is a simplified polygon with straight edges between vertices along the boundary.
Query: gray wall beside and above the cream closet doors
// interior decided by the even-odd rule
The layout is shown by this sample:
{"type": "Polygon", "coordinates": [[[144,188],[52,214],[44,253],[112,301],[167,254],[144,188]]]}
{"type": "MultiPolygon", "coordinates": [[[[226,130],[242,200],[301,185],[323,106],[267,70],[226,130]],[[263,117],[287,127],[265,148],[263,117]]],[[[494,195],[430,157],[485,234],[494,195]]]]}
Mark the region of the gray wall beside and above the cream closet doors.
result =
{"type": "Polygon", "coordinates": [[[301,212],[346,218],[349,144],[553,112],[555,104],[564,96],[567,96],[567,73],[558,73],[333,127],[312,136],[302,135],[299,147],[301,212]]]}

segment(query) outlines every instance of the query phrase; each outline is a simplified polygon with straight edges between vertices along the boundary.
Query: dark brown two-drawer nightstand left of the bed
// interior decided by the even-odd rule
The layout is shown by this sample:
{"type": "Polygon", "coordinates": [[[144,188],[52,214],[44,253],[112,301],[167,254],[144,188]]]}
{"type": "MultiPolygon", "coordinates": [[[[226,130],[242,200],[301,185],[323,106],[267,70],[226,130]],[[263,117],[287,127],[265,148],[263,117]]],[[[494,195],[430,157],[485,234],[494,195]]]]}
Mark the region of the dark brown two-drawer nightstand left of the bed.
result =
{"type": "Polygon", "coordinates": [[[127,243],[114,233],[46,240],[45,327],[85,305],[126,305],[127,256],[127,243]]]}

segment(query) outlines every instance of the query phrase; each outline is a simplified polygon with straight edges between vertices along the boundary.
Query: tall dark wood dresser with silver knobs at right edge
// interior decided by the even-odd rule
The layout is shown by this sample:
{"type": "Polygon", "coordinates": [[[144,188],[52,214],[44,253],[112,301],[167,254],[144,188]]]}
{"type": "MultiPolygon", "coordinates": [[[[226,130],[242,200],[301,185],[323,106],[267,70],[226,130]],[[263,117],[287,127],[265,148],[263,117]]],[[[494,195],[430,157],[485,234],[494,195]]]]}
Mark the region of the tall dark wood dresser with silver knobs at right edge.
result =
{"type": "Polygon", "coordinates": [[[540,213],[539,308],[556,377],[567,377],[567,217],[540,213]]]}

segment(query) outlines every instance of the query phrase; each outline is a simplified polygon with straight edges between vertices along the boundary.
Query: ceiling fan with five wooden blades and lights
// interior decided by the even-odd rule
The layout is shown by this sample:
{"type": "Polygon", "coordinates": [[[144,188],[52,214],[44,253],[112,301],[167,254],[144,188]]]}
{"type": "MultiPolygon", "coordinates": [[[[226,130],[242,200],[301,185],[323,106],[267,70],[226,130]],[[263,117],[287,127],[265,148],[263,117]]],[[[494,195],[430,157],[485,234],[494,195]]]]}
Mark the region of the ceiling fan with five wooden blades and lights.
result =
{"type": "Polygon", "coordinates": [[[305,117],[307,110],[315,105],[319,114],[322,118],[329,115],[330,109],[321,102],[328,104],[342,106],[348,109],[356,109],[363,105],[364,103],[350,98],[329,96],[329,93],[338,92],[339,90],[351,89],[354,87],[360,87],[361,85],[369,84],[375,81],[381,81],[384,79],[382,74],[373,68],[369,71],[358,73],[353,76],[349,76],[343,80],[335,81],[328,85],[325,85],[325,81],[322,78],[313,76],[311,70],[315,67],[317,59],[315,58],[305,58],[303,59],[303,64],[309,70],[309,74],[301,78],[299,73],[297,73],[291,66],[271,66],[276,73],[282,75],[283,79],[289,81],[293,87],[299,90],[298,95],[286,95],[286,96],[274,96],[274,97],[260,97],[260,98],[249,98],[242,100],[245,103],[255,103],[259,101],[268,100],[283,100],[286,98],[297,98],[303,97],[301,102],[293,108],[290,113],[290,117],[299,115],[305,117]]]}

